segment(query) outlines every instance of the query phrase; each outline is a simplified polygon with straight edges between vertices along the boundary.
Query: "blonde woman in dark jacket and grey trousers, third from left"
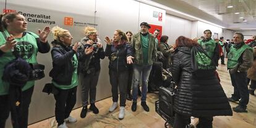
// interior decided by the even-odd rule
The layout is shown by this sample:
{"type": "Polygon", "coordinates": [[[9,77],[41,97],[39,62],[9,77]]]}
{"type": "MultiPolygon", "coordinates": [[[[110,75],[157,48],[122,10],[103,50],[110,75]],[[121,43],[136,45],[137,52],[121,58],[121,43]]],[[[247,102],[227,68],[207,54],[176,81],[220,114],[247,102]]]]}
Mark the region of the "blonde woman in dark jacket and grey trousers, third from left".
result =
{"type": "Polygon", "coordinates": [[[85,27],[85,37],[79,42],[79,72],[82,78],[82,111],[81,118],[85,118],[87,114],[88,94],[90,91],[90,108],[94,114],[98,114],[99,110],[95,106],[96,100],[96,86],[100,76],[100,59],[105,58],[104,49],[99,38],[97,38],[97,31],[91,26],[85,27]],[[88,54],[86,49],[90,50],[88,54]]]}

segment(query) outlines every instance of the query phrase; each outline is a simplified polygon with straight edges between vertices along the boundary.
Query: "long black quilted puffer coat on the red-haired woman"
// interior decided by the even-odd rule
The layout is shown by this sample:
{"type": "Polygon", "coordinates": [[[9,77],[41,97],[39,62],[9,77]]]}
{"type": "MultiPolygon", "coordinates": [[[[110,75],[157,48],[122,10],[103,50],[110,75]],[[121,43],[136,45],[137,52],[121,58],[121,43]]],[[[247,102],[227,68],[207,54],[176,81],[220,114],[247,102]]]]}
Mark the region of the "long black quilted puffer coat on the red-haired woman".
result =
{"type": "Polygon", "coordinates": [[[190,48],[178,47],[171,72],[177,83],[174,110],[186,116],[231,116],[232,110],[215,71],[193,74],[190,48]],[[207,75],[205,75],[207,74],[207,75]]]}

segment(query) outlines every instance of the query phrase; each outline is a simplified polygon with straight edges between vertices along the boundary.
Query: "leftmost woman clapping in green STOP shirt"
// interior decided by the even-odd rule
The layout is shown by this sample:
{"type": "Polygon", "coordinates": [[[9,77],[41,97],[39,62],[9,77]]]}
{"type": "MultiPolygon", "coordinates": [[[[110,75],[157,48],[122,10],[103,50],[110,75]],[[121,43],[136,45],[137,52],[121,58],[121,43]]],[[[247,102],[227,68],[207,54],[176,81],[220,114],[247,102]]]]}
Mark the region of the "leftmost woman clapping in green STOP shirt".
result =
{"type": "MultiPolygon", "coordinates": [[[[16,12],[0,15],[0,127],[5,127],[6,119],[11,110],[9,97],[9,83],[2,81],[4,66],[14,60],[15,55],[28,63],[36,64],[36,55],[38,52],[49,52],[49,44],[46,40],[49,27],[46,26],[43,31],[38,31],[38,35],[27,32],[27,21],[25,17],[16,12]]],[[[12,119],[13,127],[27,127],[28,108],[31,102],[35,81],[27,81],[22,87],[22,98],[16,103],[19,106],[20,113],[12,119]]],[[[13,117],[13,116],[12,116],[13,117]]]]}

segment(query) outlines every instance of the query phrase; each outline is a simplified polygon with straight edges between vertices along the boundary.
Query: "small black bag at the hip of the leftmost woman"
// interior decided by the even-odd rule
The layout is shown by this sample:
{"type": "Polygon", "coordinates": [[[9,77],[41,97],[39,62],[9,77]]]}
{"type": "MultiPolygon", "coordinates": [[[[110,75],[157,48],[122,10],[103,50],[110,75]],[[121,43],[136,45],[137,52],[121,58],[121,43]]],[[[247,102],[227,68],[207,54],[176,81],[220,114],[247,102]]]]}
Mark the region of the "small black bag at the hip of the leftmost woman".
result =
{"type": "Polygon", "coordinates": [[[32,71],[30,73],[30,80],[38,80],[45,78],[45,65],[30,63],[32,71]]]}

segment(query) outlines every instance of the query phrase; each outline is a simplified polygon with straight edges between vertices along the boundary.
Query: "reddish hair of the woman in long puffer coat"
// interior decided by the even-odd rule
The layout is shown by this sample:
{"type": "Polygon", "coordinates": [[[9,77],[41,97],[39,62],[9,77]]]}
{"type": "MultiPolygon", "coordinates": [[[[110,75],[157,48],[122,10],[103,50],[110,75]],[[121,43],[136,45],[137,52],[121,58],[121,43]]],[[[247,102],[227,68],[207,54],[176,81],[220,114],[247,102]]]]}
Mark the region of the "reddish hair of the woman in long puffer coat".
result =
{"type": "Polygon", "coordinates": [[[174,44],[174,49],[177,47],[193,47],[193,46],[199,46],[199,44],[192,39],[186,38],[185,36],[179,36],[179,38],[176,39],[176,42],[174,44]]]}

